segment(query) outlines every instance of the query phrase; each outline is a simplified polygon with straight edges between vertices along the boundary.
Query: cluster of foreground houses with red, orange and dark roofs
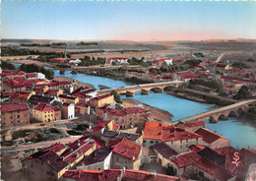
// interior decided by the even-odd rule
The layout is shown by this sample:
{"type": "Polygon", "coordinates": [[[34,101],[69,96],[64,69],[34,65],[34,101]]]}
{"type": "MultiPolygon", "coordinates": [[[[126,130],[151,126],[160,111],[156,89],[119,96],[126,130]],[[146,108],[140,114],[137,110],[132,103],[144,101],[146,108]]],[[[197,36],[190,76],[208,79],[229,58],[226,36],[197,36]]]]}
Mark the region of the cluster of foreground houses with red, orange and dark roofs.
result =
{"type": "Polygon", "coordinates": [[[233,171],[228,161],[235,150],[227,139],[205,128],[190,132],[146,121],[141,134],[125,133],[113,120],[102,120],[83,135],[69,146],[57,144],[33,153],[22,161],[24,173],[34,179],[40,170],[45,180],[77,180],[80,173],[138,170],[142,163],[158,161],[177,178],[197,174],[201,179],[223,181],[243,177],[241,171],[256,159],[255,151],[238,151],[244,155],[244,164],[233,171]]]}

